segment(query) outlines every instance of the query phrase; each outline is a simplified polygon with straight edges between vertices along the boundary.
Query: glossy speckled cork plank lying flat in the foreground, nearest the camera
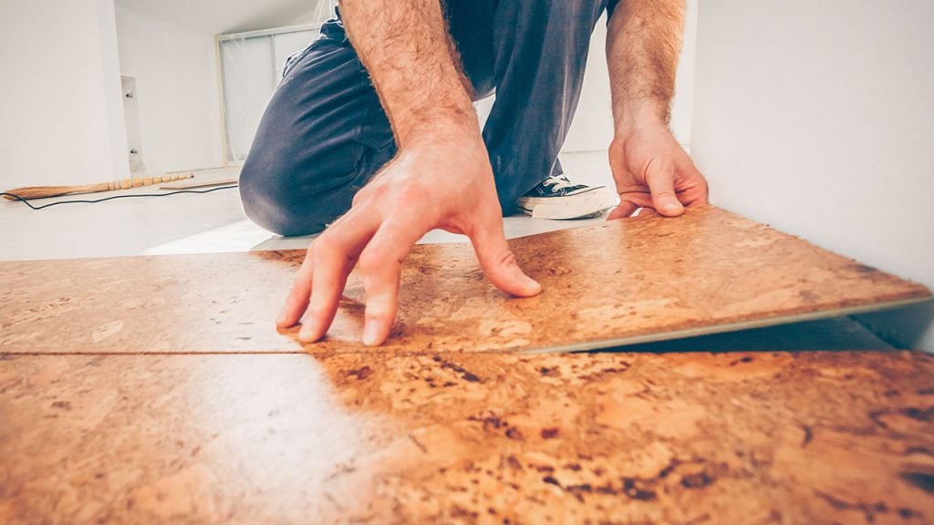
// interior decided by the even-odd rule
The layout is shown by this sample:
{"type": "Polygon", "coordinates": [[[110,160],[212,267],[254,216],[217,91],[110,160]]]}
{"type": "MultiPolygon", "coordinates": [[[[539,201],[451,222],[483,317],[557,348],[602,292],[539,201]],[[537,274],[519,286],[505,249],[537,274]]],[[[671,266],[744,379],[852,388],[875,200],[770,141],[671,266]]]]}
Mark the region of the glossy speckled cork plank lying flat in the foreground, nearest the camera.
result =
{"type": "Polygon", "coordinates": [[[0,357],[8,524],[934,520],[922,353],[0,357]]]}

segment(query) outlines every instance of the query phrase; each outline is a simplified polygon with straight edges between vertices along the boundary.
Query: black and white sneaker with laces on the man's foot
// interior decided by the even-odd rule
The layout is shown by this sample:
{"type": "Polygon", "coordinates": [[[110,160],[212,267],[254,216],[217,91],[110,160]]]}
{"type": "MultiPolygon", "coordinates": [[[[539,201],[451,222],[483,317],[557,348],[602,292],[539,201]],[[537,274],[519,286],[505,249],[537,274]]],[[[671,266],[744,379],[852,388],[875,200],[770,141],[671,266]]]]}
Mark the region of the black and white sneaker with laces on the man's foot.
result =
{"type": "Polygon", "coordinates": [[[589,219],[616,206],[616,193],[606,186],[574,184],[568,177],[552,175],[519,197],[517,206],[532,219],[589,219]]]}

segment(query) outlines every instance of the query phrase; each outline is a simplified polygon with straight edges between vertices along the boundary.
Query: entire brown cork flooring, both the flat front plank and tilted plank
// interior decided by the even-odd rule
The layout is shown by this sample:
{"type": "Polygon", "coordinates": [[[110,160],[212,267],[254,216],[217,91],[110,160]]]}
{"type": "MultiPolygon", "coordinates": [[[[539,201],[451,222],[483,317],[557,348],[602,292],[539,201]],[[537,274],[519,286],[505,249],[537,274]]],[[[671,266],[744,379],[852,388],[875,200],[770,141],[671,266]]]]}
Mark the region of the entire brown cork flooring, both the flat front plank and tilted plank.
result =
{"type": "Polygon", "coordinates": [[[539,298],[417,248],[375,350],[359,280],[272,328],[300,252],[0,263],[0,523],[934,522],[932,355],[555,352],[927,290],[716,208],[513,247],[539,298]]]}

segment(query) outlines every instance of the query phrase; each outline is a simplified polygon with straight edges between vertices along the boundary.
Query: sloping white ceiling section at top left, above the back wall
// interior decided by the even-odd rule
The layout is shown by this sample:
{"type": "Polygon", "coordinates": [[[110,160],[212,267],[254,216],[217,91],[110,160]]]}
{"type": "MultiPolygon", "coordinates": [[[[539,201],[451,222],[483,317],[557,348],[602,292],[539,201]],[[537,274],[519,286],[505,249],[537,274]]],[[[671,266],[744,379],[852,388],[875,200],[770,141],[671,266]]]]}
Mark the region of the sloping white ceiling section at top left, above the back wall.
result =
{"type": "Polygon", "coordinates": [[[323,18],[330,0],[114,0],[114,5],[211,35],[323,18]]]}

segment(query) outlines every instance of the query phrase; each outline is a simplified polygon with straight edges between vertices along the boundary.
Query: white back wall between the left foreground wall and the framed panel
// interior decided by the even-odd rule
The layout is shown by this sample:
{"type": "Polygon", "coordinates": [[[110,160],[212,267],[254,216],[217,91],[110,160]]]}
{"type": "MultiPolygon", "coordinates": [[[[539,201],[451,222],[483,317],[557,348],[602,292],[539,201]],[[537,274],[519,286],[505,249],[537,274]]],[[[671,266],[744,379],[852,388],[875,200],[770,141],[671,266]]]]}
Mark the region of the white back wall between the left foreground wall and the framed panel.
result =
{"type": "Polygon", "coordinates": [[[147,171],[223,164],[214,35],[117,8],[120,72],[136,81],[147,171]]]}

